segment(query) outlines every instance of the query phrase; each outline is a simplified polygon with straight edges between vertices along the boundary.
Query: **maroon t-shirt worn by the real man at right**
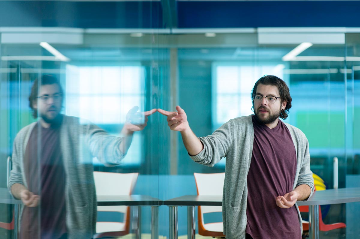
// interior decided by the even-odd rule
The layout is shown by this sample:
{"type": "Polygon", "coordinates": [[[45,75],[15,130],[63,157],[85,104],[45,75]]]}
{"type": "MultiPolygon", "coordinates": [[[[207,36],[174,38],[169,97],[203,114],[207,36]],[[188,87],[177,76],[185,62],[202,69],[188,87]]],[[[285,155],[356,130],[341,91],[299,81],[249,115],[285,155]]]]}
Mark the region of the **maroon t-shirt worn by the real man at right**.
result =
{"type": "Polygon", "coordinates": [[[275,128],[252,116],[254,143],[247,175],[246,233],[257,238],[301,239],[295,207],[280,208],[275,198],[293,190],[296,151],[290,131],[279,120],[275,128]]]}

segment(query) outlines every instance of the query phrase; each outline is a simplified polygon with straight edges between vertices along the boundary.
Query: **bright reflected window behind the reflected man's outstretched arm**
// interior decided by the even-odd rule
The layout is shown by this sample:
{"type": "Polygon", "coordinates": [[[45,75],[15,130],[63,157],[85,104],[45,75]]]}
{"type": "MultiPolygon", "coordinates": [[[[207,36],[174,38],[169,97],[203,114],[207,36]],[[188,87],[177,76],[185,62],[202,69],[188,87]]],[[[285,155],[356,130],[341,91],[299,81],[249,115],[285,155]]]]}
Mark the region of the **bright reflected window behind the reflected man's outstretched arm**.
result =
{"type": "MultiPolygon", "coordinates": [[[[144,67],[66,67],[65,112],[99,126],[122,125],[134,106],[144,110],[144,67]]],[[[114,127],[116,128],[116,127],[114,127]]],[[[120,132],[110,132],[119,135],[120,132]]],[[[124,164],[139,164],[141,136],[134,134],[124,164]]],[[[98,163],[95,159],[94,163],[98,163]]]]}

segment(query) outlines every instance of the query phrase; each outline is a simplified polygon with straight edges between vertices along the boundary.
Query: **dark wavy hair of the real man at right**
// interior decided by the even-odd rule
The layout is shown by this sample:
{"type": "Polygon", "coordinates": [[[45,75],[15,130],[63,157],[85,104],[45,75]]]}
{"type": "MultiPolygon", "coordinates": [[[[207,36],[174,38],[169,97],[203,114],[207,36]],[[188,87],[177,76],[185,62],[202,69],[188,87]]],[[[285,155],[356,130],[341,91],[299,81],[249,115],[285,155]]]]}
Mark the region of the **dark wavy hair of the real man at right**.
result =
{"type": "Polygon", "coordinates": [[[282,118],[283,120],[286,120],[286,118],[289,116],[288,113],[291,108],[292,98],[290,96],[289,87],[286,85],[285,81],[283,81],[277,76],[271,76],[271,75],[264,75],[260,77],[260,79],[256,81],[251,91],[252,109],[254,108],[254,95],[256,94],[256,89],[258,84],[273,85],[278,87],[279,94],[281,97],[281,102],[284,101],[287,102],[285,109],[281,112],[279,117],[282,118]]]}

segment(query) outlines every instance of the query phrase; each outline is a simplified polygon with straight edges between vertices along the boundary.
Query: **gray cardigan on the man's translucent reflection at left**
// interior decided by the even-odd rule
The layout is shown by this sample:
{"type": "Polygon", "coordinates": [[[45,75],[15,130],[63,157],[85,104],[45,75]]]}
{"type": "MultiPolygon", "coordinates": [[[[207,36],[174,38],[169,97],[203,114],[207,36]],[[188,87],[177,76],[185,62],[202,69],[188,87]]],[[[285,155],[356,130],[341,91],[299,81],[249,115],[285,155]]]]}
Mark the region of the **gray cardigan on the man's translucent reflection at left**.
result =
{"type": "MultiPolygon", "coordinates": [[[[13,169],[8,185],[10,193],[15,183],[27,187],[23,159],[35,124],[36,122],[22,128],[15,137],[12,155],[13,169]]],[[[97,157],[106,166],[119,164],[124,157],[119,149],[121,141],[122,138],[109,135],[89,122],[82,122],[76,117],[63,117],[60,128],[60,147],[66,173],[66,225],[69,239],[88,239],[95,234],[97,212],[92,158],[97,157]]],[[[21,213],[22,210],[23,205],[21,213]]]]}

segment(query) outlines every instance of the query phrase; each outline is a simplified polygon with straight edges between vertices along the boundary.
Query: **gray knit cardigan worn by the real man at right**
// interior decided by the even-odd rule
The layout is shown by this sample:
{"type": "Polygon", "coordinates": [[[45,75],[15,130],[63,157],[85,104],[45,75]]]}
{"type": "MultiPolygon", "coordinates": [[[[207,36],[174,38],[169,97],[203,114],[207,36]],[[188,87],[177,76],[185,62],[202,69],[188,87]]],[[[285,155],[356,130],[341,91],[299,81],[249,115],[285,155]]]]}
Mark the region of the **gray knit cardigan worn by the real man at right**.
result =
{"type": "MultiPolygon", "coordinates": [[[[309,142],[301,130],[288,123],[285,125],[290,131],[297,155],[293,189],[301,184],[309,185],[311,196],[314,193],[314,179],[310,171],[309,142]]],[[[235,118],[215,130],[212,135],[199,137],[204,149],[191,157],[195,162],[209,167],[214,166],[221,158],[226,157],[222,194],[222,218],[226,238],[245,238],[247,173],[251,162],[253,136],[254,128],[251,115],[235,118]]],[[[274,195],[274,198],[276,196],[274,195]]],[[[295,207],[302,231],[302,221],[297,204],[295,207]]]]}

